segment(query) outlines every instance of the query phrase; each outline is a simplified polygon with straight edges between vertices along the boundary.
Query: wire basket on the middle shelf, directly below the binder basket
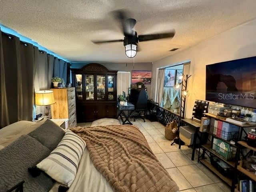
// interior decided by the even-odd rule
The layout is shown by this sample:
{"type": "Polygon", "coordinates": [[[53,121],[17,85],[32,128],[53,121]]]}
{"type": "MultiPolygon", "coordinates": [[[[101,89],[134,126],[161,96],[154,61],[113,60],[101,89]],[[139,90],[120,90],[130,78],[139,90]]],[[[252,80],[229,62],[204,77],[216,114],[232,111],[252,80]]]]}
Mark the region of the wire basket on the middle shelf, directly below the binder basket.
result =
{"type": "Polygon", "coordinates": [[[220,139],[213,139],[212,149],[226,160],[231,160],[236,156],[236,148],[220,139]]]}

